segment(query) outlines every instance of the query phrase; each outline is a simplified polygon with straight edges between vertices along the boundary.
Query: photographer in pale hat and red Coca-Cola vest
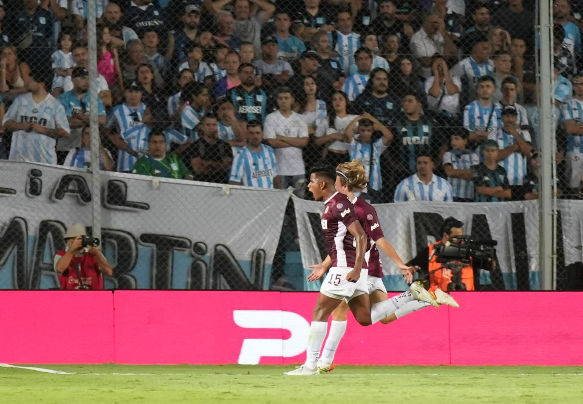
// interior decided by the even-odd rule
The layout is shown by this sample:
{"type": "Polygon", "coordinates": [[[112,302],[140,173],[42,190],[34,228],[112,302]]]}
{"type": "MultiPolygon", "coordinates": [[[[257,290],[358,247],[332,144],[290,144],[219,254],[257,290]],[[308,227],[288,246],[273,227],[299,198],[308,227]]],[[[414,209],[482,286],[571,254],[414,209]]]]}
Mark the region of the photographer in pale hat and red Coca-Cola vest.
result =
{"type": "Polygon", "coordinates": [[[87,236],[85,226],[73,224],[65,233],[65,250],[55,253],[54,268],[63,290],[102,290],[102,276],[113,275],[113,268],[99,247],[83,247],[83,236],[87,236]]]}

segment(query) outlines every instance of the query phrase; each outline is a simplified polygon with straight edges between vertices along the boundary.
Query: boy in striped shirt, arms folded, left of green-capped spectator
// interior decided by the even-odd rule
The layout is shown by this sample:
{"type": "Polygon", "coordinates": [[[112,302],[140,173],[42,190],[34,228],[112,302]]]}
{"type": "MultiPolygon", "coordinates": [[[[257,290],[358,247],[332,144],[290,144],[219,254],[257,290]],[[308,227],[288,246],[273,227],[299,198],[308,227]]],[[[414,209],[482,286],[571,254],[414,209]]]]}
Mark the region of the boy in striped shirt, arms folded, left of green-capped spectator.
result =
{"type": "Polygon", "coordinates": [[[468,131],[455,128],[451,134],[451,148],[443,155],[443,168],[454,195],[454,202],[473,202],[473,173],[470,169],[480,164],[480,157],[468,148],[468,131]]]}

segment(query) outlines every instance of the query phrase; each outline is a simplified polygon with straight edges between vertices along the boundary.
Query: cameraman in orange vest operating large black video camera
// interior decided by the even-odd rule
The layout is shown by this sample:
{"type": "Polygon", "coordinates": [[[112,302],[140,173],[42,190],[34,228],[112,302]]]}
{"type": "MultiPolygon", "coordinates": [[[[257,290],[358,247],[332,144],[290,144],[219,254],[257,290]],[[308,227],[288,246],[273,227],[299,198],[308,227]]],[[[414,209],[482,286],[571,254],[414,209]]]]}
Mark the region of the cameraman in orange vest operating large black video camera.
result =
{"type": "Polygon", "coordinates": [[[429,274],[429,282],[427,280],[425,281],[426,287],[427,283],[429,283],[428,289],[440,288],[444,291],[448,289],[482,290],[479,282],[480,268],[490,271],[494,289],[504,289],[504,282],[500,271],[492,271],[496,267],[496,260],[491,258],[480,260],[480,262],[476,262],[470,258],[470,264],[461,267],[461,270],[459,270],[462,285],[454,284],[450,286],[452,278],[454,278],[454,271],[450,268],[445,268],[443,263],[437,262],[438,254],[436,249],[440,244],[447,243],[448,241],[456,242],[456,237],[463,236],[463,222],[451,216],[446,218],[441,225],[440,234],[441,240],[420,250],[417,256],[407,263],[407,265],[421,268],[418,271],[420,275],[427,276],[429,274]]]}

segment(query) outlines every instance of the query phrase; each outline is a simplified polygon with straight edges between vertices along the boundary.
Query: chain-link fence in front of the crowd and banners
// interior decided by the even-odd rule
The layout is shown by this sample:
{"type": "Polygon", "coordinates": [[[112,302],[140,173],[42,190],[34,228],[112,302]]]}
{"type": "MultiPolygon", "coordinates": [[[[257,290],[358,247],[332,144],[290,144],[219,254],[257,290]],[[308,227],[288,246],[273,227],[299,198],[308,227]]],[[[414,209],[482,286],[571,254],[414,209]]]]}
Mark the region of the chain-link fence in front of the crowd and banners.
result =
{"type": "MultiPolygon", "coordinates": [[[[81,222],[101,227],[105,288],[317,290],[309,172],[354,159],[404,261],[431,254],[453,216],[480,246],[498,242],[475,289],[583,288],[579,2],[554,1],[552,52],[526,0],[94,5],[0,1],[0,288],[88,277],[57,268],[81,222]],[[550,54],[554,136],[538,90],[550,54]],[[556,265],[541,268],[549,136],[546,192],[568,200],[554,201],[556,265]]],[[[405,288],[381,256],[387,288],[405,288]]]]}

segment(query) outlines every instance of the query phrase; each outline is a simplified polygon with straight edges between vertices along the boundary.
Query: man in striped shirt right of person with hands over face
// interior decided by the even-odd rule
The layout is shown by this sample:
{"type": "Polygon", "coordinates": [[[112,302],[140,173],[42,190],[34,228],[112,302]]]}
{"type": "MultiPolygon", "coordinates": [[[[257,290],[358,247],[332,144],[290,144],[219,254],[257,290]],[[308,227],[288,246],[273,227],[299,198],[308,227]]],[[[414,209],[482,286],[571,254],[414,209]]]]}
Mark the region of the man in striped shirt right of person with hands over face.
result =
{"type": "MultiPolygon", "coordinates": [[[[472,54],[459,61],[451,68],[451,75],[458,76],[462,80],[464,92],[462,98],[465,102],[476,99],[477,84],[480,77],[494,74],[494,62],[490,59],[492,46],[486,36],[480,35],[472,46],[472,54]]],[[[496,84],[496,81],[494,81],[496,84]]]]}

